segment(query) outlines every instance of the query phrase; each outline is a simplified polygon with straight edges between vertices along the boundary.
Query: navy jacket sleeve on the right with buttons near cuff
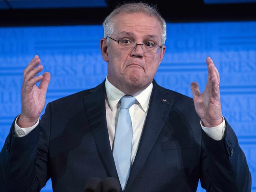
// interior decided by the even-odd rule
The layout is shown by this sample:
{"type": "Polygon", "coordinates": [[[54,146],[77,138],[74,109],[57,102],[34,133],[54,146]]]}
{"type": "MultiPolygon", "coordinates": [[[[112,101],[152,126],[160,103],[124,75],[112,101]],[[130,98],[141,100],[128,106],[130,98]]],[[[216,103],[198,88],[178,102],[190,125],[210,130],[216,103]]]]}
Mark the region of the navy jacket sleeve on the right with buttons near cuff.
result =
{"type": "Polygon", "coordinates": [[[250,192],[251,174],[245,154],[227,121],[225,137],[220,141],[202,131],[201,159],[200,181],[207,192],[250,192]]]}

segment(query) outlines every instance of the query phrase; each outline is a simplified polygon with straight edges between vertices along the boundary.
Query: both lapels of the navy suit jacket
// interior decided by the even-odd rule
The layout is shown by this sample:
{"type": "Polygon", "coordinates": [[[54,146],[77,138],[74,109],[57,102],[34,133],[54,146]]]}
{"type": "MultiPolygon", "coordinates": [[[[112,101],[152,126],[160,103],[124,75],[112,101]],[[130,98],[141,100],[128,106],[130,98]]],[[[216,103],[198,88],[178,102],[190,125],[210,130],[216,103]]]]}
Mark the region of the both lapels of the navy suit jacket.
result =
{"type": "MultiPolygon", "coordinates": [[[[84,107],[99,156],[107,171],[108,177],[114,177],[119,181],[108,137],[105,108],[105,81],[90,92],[90,94],[84,96],[84,107]]],[[[153,82],[153,91],[151,93],[146,123],[125,191],[129,190],[138,173],[143,170],[143,166],[146,163],[151,149],[170,113],[173,100],[171,94],[168,93],[170,93],[170,91],[159,87],[155,81],[153,82]],[[167,102],[163,102],[163,99],[167,102]]]]}

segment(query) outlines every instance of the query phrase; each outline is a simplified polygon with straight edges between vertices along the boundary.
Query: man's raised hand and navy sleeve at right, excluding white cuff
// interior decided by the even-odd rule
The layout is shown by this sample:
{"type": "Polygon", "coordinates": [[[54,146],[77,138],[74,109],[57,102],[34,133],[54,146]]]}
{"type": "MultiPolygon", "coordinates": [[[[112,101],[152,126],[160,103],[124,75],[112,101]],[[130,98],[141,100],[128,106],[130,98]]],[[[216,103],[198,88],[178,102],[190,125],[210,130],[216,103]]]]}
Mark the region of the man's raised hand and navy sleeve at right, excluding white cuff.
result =
{"type": "MultiPolygon", "coordinates": [[[[200,93],[198,84],[191,83],[194,106],[206,127],[222,122],[219,72],[211,58],[207,58],[208,76],[205,90],[200,93]]],[[[224,138],[214,140],[202,130],[202,173],[200,180],[207,191],[250,191],[251,175],[245,155],[228,123],[224,138]]]]}

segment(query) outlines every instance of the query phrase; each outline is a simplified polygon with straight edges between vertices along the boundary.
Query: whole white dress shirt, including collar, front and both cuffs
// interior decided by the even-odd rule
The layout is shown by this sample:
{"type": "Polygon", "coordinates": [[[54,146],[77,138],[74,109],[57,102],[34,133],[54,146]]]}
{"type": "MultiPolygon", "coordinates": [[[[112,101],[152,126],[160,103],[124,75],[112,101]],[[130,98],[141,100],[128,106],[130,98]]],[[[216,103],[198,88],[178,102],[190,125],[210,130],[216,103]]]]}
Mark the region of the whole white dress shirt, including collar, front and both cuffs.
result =
{"type": "MultiPolygon", "coordinates": [[[[107,93],[106,98],[106,117],[107,117],[107,129],[108,129],[108,136],[111,149],[113,148],[115,130],[116,130],[116,123],[118,119],[118,114],[120,111],[120,99],[125,95],[122,91],[112,85],[108,79],[106,78],[105,88],[107,93]]],[[[149,100],[150,95],[153,89],[153,84],[151,83],[146,89],[140,91],[133,95],[137,102],[133,104],[129,108],[129,112],[131,115],[131,121],[133,126],[133,142],[132,142],[132,154],[131,154],[131,162],[133,163],[135,159],[135,155],[138,149],[138,145],[140,143],[140,137],[142,134],[142,130],[145,124],[146,116],[148,114],[149,108],[149,100]]],[[[18,116],[19,117],[19,116],[18,116]]],[[[29,134],[39,123],[39,119],[35,125],[28,128],[21,128],[17,125],[17,119],[15,120],[15,136],[23,137],[29,134]]],[[[211,138],[215,140],[221,140],[224,137],[224,131],[226,129],[226,123],[223,118],[223,122],[216,126],[216,127],[204,127],[202,125],[202,129],[209,135],[211,138]]]]}

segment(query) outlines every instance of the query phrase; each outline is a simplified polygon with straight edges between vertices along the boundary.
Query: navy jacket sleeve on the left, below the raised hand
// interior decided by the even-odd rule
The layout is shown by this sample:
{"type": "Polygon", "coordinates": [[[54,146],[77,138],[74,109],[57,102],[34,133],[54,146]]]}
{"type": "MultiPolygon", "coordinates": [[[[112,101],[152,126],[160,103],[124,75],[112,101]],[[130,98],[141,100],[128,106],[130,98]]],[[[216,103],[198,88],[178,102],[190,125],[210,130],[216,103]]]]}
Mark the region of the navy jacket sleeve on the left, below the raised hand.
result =
{"type": "Polygon", "coordinates": [[[15,137],[13,131],[14,122],[0,153],[0,191],[39,192],[50,178],[50,103],[28,135],[15,137]]]}

